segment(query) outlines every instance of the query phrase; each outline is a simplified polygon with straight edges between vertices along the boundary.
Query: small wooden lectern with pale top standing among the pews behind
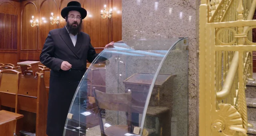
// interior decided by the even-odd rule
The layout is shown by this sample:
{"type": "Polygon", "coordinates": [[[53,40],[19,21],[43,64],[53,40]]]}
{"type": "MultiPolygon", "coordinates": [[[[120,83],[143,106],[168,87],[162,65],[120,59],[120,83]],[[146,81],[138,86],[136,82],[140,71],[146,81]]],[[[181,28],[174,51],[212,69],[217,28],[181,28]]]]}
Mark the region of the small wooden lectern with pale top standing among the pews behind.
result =
{"type": "Polygon", "coordinates": [[[17,64],[20,65],[20,69],[22,74],[24,75],[24,71],[28,71],[28,65],[31,66],[33,76],[36,77],[36,72],[40,72],[39,70],[39,61],[24,61],[24,62],[18,62],[17,64]]]}

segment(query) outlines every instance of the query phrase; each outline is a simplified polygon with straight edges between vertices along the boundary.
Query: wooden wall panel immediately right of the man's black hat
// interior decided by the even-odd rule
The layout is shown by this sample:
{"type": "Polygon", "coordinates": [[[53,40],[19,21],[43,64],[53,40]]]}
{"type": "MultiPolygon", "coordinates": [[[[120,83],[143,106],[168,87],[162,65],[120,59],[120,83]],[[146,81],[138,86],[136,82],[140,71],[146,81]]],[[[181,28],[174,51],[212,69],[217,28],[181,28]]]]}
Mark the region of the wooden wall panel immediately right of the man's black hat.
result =
{"type": "Polygon", "coordinates": [[[108,39],[108,26],[110,20],[102,19],[100,10],[104,9],[108,0],[84,0],[84,8],[87,10],[87,17],[83,20],[83,31],[90,35],[91,44],[94,48],[105,47],[110,41],[108,39]]]}

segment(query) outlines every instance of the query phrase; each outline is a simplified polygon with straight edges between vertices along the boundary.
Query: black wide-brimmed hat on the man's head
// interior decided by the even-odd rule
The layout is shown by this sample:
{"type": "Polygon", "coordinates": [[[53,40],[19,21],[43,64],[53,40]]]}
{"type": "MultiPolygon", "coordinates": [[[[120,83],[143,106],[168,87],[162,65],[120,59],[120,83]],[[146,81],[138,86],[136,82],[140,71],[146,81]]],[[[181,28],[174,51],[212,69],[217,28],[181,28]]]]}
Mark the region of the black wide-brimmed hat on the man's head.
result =
{"type": "Polygon", "coordinates": [[[68,2],[68,5],[61,10],[60,14],[63,18],[65,18],[66,16],[68,16],[68,12],[72,10],[80,12],[81,19],[84,19],[87,16],[87,11],[81,7],[81,4],[79,2],[76,1],[68,2]]]}

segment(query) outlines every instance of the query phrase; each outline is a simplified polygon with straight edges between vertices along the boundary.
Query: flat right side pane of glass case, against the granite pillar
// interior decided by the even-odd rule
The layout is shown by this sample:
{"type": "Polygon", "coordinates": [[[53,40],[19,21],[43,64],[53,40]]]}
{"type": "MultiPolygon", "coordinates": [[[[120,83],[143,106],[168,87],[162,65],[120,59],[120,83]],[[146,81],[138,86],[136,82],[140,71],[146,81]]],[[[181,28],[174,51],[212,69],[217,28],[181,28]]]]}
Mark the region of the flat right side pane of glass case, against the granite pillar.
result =
{"type": "MultiPolygon", "coordinates": [[[[188,39],[166,54],[150,86],[142,120],[150,136],[188,136],[188,39]],[[149,101],[148,101],[149,100],[149,101]]],[[[142,132],[142,136],[147,135],[142,132]]]]}

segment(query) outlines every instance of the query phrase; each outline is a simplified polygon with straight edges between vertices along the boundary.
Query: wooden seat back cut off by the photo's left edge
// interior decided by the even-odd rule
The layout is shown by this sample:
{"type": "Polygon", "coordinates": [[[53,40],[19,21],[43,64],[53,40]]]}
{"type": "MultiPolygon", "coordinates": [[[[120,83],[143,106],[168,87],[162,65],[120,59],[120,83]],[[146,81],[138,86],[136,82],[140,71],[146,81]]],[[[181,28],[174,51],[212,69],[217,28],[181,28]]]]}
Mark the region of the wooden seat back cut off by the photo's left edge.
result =
{"type": "Polygon", "coordinates": [[[0,109],[1,105],[15,108],[17,113],[18,82],[21,72],[16,70],[0,71],[0,109]]]}

